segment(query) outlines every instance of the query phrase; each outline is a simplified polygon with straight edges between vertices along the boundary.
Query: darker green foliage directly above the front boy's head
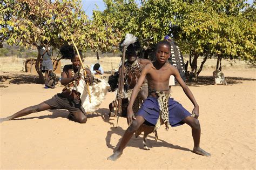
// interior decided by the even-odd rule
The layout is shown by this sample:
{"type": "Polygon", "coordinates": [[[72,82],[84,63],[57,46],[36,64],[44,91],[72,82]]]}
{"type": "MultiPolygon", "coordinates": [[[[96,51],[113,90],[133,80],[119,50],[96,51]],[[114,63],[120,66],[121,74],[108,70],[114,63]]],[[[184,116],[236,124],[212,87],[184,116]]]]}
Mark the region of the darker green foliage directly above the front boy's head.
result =
{"type": "Polygon", "coordinates": [[[149,0],[142,1],[138,12],[138,36],[144,46],[153,46],[170,31],[170,24],[174,21],[171,12],[171,1],[149,0]]]}

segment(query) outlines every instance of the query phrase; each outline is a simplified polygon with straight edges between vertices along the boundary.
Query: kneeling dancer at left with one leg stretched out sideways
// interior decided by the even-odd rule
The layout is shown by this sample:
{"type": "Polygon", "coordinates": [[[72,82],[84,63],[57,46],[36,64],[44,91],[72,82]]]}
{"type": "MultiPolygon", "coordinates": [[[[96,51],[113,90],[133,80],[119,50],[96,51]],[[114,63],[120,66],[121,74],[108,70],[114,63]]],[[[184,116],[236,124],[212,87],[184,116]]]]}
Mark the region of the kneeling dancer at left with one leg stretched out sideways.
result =
{"type": "MultiPolygon", "coordinates": [[[[92,83],[93,77],[91,75],[91,71],[89,69],[86,69],[87,76],[81,76],[80,74],[80,60],[70,45],[64,45],[60,49],[60,53],[62,54],[63,59],[70,59],[72,64],[65,65],[62,72],[62,78],[60,83],[65,85],[62,93],[56,94],[54,97],[52,97],[49,100],[43,101],[43,103],[26,107],[21,111],[18,111],[17,113],[6,117],[1,118],[0,122],[5,120],[12,120],[15,118],[23,117],[24,115],[28,115],[35,112],[41,112],[45,110],[50,109],[66,109],[70,112],[69,118],[75,119],[75,121],[78,121],[79,123],[86,123],[87,117],[84,108],[82,107],[82,103],[80,100],[80,93],[78,92],[77,85],[79,83],[86,84],[83,81],[86,81],[88,83],[92,83]]],[[[82,57],[82,55],[80,54],[82,57]]],[[[81,71],[82,72],[82,71],[81,71]]]]}

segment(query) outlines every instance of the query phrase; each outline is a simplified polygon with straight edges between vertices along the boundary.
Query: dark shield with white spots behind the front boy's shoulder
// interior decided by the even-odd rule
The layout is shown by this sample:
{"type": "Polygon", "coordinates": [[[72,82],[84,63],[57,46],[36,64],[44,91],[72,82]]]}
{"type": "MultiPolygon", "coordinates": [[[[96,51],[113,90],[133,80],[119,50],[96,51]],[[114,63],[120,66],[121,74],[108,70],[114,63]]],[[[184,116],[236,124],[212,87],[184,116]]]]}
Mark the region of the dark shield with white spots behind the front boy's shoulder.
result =
{"type": "Polygon", "coordinates": [[[183,56],[179,50],[179,46],[172,39],[169,42],[171,44],[171,56],[168,59],[169,63],[177,67],[180,73],[180,77],[183,79],[183,81],[186,81],[185,63],[183,56]]]}

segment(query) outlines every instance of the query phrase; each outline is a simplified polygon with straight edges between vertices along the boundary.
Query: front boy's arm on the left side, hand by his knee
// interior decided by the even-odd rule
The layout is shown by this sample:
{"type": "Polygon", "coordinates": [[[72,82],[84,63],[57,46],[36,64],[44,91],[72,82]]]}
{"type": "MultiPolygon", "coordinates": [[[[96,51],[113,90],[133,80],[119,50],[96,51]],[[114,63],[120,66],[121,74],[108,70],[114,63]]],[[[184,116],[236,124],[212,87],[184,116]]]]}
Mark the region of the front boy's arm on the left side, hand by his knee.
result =
{"type": "Polygon", "coordinates": [[[142,74],[140,75],[136,85],[134,86],[131,94],[131,98],[129,101],[129,105],[127,107],[127,124],[130,126],[132,124],[132,119],[136,119],[134,116],[134,113],[132,111],[132,106],[134,103],[134,100],[136,99],[138,93],[139,93],[139,88],[142,86],[144,79],[146,77],[147,71],[149,70],[149,65],[145,66],[142,70],[142,74]]]}

